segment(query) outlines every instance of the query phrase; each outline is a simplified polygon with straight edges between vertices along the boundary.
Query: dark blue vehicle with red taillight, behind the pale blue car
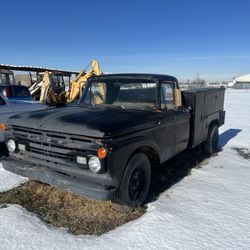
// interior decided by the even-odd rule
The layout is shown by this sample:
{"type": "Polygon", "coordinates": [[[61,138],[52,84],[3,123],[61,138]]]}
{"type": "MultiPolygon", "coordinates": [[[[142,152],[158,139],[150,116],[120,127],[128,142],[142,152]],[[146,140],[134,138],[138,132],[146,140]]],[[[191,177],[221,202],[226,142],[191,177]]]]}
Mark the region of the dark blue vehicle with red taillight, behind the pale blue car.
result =
{"type": "Polygon", "coordinates": [[[0,93],[8,100],[31,101],[29,89],[22,85],[1,84],[0,93]]]}

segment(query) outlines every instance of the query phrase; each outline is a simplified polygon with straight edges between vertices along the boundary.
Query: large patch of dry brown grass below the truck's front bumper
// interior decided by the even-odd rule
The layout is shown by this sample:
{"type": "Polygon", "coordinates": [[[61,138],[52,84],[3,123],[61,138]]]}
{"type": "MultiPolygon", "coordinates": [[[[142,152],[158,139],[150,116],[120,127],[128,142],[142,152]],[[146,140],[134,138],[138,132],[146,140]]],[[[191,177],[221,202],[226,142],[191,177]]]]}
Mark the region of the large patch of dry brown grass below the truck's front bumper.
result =
{"type": "Polygon", "coordinates": [[[6,207],[3,204],[21,205],[43,221],[68,228],[73,234],[101,235],[145,213],[142,208],[117,212],[111,202],[90,200],[36,181],[0,193],[0,204],[2,208],[6,207]]]}

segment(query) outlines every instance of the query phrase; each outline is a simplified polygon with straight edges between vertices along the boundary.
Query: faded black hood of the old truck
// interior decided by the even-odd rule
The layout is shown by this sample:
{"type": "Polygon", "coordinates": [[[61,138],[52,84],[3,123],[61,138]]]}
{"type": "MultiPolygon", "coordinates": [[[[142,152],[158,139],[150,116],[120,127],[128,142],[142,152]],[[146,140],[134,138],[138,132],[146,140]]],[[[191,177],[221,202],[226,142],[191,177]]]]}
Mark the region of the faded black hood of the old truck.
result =
{"type": "Polygon", "coordinates": [[[95,138],[116,137],[156,126],[155,112],[112,106],[63,107],[12,116],[22,126],[95,138]]]}

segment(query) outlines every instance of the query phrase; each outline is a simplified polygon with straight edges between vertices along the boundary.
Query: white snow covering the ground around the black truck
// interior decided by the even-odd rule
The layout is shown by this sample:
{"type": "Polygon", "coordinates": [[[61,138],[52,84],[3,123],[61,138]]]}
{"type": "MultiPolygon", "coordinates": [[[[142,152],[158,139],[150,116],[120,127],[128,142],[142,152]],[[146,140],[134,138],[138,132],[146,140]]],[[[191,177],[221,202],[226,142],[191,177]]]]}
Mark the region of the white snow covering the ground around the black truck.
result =
{"type": "MultiPolygon", "coordinates": [[[[0,249],[250,249],[250,91],[227,90],[223,151],[172,186],[147,213],[102,236],[74,236],[20,206],[0,209],[0,249]]],[[[1,160],[0,160],[1,162],[1,160]]],[[[25,181],[0,164],[0,191],[25,181]]]]}

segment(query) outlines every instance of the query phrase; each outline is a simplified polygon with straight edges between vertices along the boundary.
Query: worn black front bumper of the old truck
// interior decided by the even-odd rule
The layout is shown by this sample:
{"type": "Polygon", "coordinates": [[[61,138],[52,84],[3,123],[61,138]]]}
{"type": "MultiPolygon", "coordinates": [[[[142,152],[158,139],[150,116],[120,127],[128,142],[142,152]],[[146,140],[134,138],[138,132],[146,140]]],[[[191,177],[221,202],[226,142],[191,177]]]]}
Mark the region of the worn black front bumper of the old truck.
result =
{"type": "Polygon", "coordinates": [[[112,200],[116,191],[115,186],[112,185],[112,178],[106,175],[74,176],[52,170],[49,167],[11,158],[5,158],[1,162],[3,167],[12,173],[96,200],[112,200]]]}

